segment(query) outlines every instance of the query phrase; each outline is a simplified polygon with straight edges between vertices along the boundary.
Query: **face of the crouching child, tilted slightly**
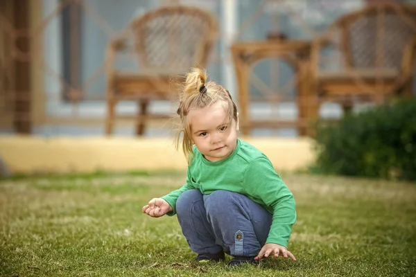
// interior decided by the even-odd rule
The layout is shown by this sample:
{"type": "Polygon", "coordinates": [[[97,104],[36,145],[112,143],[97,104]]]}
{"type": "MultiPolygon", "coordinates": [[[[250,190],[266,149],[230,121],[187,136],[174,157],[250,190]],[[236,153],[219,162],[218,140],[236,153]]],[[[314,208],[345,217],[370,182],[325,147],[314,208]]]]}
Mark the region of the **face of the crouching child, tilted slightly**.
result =
{"type": "Polygon", "coordinates": [[[208,161],[227,158],[236,148],[238,122],[227,123],[227,103],[218,101],[205,108],[191,109],[191,139],[208,161]]]}

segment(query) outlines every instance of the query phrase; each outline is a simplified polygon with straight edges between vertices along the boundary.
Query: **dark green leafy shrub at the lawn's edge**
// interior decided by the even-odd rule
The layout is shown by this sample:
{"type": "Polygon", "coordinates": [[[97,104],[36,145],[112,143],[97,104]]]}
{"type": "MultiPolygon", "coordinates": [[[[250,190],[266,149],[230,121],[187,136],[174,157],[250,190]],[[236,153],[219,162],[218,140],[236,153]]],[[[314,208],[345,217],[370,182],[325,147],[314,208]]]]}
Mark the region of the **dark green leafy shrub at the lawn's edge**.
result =
{"type": "Polygon", "coordinates": [[[317,170],[329,174],[416,180],[416,100],[397,100],[335,125],[318,123],[317,170]]]}

